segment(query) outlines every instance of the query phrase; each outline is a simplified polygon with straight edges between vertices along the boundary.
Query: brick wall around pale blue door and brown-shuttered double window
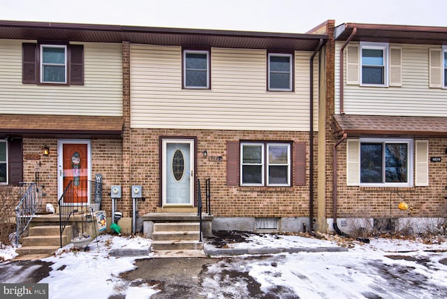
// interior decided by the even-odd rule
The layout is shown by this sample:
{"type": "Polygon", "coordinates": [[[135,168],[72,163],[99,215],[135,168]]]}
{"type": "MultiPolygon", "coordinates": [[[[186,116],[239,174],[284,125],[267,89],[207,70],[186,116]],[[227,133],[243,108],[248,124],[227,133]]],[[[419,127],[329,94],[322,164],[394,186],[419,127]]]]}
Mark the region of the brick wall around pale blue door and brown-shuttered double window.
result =
{"type": "MultiPolygon", "coordinates": [[[[131,129],[131,182],[142,185],[145,202],[138,203],[139,214],[155,212],[160,199],[159,136],[197,138],[196,176],[204,187],[211,178],[212,213],[217,217],[305,217],[309,215],[309,169],[306,186],[296,187],[228,187],[226,186],[226,143],[228,140],[286,140],[307,143],[309,133],[274,131],[219,131],[131,129]],[[207,150],[207,157],[203,151],[207,150]],[[222,156],[223,161],[210,161],[222,156]]],[[[314,145],[316,152],[316,143],[314,145]]],[[[129,186],[124,188],[129,189],[129,186]]],[[[203,188],[205,192],[205,188],[203,188]]],[[[125,202],[126,200],[124,200],[125,202]]],[[[131,199],[127,198],[127,201],[131,199]]],[[[126,209],[126,212],[130,210],[126,209]]]]}

